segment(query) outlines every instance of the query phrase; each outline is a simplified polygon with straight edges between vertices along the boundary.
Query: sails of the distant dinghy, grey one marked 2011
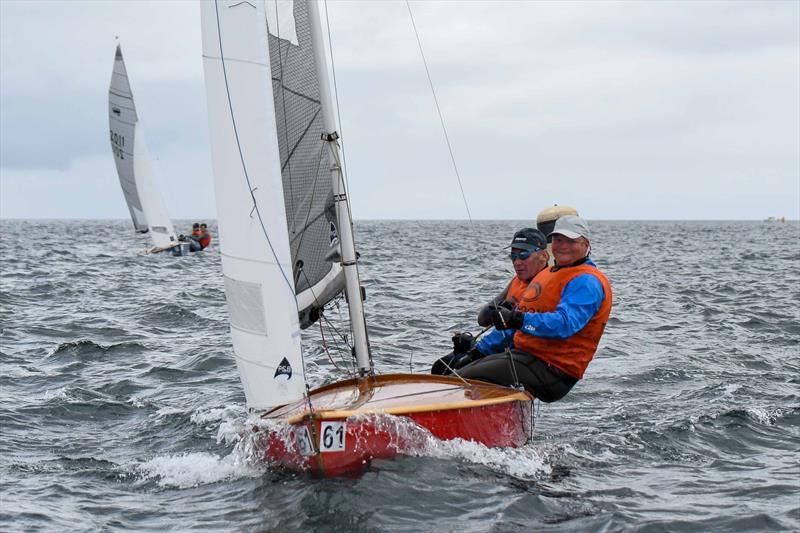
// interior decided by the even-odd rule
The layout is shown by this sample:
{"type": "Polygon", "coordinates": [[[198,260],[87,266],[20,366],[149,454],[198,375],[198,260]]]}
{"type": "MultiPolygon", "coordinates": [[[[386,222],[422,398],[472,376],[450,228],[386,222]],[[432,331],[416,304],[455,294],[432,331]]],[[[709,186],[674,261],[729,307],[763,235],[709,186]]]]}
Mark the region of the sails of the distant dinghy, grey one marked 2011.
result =
{"type": "Polygon", "coordinates": [[[111,150],[134,228],[142,233],[149,231],[154,246],[169,247],[177,242],[177,237],[155,185],[150,155],[119,45],[108,89],[108,122],[111,150]]]}

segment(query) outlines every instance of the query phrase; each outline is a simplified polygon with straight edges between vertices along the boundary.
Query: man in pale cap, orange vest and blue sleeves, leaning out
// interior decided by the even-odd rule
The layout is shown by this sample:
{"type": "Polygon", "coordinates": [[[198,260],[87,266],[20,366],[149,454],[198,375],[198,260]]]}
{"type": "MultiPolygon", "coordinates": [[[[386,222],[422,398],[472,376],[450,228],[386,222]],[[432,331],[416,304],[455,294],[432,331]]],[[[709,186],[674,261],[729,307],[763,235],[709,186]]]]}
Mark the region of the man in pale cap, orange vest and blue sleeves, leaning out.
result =
{"type": "Polygon", "coordinates": [[[550,235],[555,266],[534,277],[516,308],[491,309],[495,330],[459,361],[461,377],[518,382],[544,402],[560,400],[583,378],[611,313],[611,284],[589,259],[582,218],[559,218],[550,235]]]}

